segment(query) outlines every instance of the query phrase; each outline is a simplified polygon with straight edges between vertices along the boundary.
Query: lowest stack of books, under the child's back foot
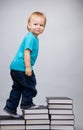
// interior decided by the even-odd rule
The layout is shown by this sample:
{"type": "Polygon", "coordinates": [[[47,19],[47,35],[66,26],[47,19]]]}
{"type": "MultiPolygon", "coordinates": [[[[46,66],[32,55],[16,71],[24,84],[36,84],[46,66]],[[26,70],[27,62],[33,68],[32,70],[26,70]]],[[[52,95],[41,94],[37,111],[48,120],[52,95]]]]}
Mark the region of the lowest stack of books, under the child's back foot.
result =
{"type": "Polygon", "coordinates": [[[25,120],[23,118],[0,116],[0,130],[25,130],[25,120]]]}

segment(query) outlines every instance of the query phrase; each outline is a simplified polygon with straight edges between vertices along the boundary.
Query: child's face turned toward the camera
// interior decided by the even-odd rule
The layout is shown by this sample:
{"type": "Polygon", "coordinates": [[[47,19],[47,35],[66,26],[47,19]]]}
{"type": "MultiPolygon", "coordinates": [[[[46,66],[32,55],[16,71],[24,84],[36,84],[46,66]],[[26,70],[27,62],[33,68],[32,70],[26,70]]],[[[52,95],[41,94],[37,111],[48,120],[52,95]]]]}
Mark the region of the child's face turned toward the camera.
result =
{"type": "Polygon", "coordinates": [[[30,22],[28,23],[28,28],[35,36],[38,36],[44,31],[45,20],[43,17],[32,16],[30,22]]]}

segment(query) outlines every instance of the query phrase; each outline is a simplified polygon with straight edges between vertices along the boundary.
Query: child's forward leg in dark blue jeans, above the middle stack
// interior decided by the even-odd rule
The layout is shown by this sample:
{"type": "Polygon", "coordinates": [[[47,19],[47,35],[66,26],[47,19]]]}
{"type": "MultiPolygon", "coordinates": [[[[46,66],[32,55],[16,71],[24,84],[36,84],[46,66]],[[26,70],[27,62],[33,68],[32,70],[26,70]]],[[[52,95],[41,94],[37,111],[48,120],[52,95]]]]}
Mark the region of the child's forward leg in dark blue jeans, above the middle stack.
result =
{"type": "Polygon", "coordinates": [[[22,88],[22,100],[21,100],[21,108],[26,109],[28,105],[33,104],[33,97],[36,96],[36,78],[35,74],[32,71],[32,75],[28,77],[25,75],[25,83],[22,88]]]}

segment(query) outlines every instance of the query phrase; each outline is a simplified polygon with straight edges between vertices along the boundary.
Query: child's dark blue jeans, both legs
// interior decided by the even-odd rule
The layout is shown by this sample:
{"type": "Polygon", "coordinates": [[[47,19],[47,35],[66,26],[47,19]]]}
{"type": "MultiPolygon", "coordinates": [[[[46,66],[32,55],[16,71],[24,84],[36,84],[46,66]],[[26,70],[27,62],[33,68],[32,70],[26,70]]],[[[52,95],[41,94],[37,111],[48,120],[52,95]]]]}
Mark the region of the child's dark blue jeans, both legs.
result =
{"type": "Polygon", "coordinates": [[[33,97],[37,94],[36,78],[33,71],[31,76],[27,76],[25,72],[16,70],[11,70],[10,74],[13,85],[9,99],[6,102],[6,107],[13,111],[17,111],[20,99],[21,108],[26,108],[27,105],[33,103],[33,97]]]}

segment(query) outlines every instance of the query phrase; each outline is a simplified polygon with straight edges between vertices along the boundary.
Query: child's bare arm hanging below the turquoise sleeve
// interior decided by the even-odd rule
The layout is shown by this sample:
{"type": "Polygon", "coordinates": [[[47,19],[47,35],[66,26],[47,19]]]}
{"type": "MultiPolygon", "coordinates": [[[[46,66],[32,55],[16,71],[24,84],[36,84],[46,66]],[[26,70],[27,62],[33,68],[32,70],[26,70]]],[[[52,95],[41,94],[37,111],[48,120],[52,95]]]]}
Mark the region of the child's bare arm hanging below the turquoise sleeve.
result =
{"type": "Polygon", "coordinates": [[[31,76],[32,70],[31,70],[31,64],[30,64],[30,50],[29,49],[24,51],[24,62],[26,66],[25,74],[28,76],[31,76]]]}

